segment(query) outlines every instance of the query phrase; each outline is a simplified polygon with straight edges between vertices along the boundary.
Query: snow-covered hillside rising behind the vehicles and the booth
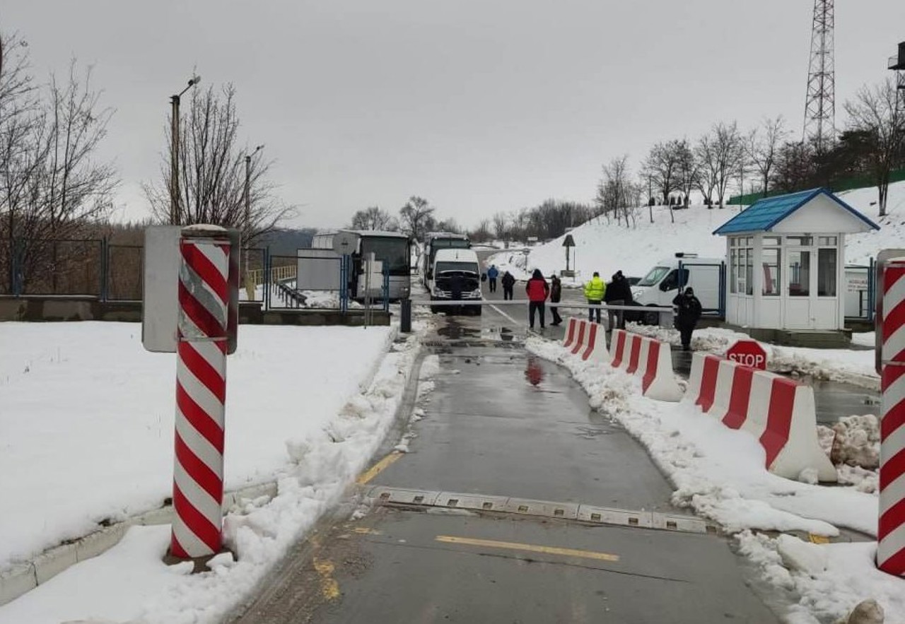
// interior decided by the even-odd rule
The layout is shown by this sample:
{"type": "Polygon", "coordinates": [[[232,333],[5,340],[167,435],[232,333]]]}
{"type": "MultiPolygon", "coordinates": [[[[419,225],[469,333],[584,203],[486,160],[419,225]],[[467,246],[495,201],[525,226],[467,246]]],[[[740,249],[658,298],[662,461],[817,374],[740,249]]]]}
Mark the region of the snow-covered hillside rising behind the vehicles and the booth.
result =
{"type": "MultiPolygon", "coordinates": [[[[866,265],[878,251],[905,245],[905,182],[890,185],[887,215],[883,218],[877,215],[875,187],[846,191],[839,197],[881,226],[879,232],[856,234],[847,239],[846,264],[866,265]]],[[[627,276],[643,276],[657,260],[677,251],[697,253],[701,258],[725,257],[725,239],[711,232],[738,214],[737,206],[720,210],[695,205],[673,214],[674,223],[666,206],[654,206],[652,223],[645,206],[638,209],[637,222],[631,227],[607,222],[603,217],[576,227],[570,232],[576,243],[572,264],[578,270],[576,280],[587,279],[595,270],[605,279],[616,270],[622,270],[627,276]]],[[[527,260],[520,251],[506,251],[494,255],[488,264],[508,269],[520,279],[525,279],[526,271],[533,269],[549,275],[566,268],[564,239],[561,236],[533,248],[527,260]]]]}

